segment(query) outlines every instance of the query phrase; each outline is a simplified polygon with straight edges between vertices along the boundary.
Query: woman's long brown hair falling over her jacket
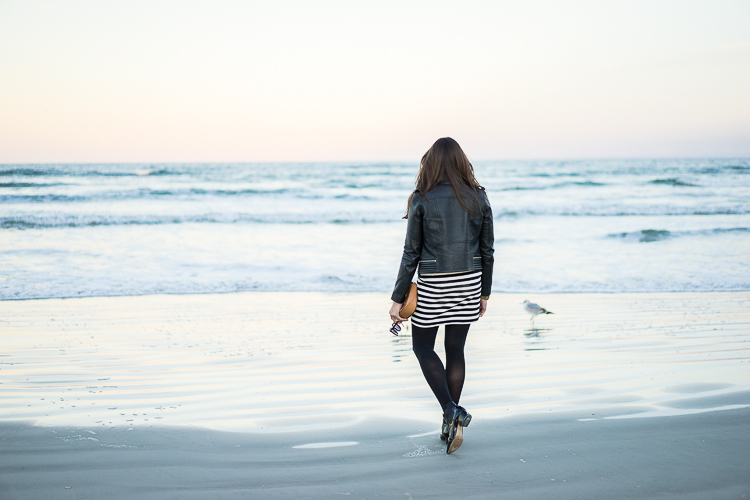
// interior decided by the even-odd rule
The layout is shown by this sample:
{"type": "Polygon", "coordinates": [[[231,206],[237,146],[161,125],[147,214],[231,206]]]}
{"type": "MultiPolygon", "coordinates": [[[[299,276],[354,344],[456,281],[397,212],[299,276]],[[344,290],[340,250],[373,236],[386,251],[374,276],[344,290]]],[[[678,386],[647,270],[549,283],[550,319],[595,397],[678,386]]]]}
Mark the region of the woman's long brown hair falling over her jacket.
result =
{"type": "Polygon", "coordinates": [[[476,199],[467,196],[466,188],[475,193],[484,188],[474,177],[474,167],[461,146],[450,137],[443,137],[435,141],[419,163],[416,189],[409,195],[409,200],[406,202],[404,219],[409,217],[409,204],[414,193],[419,191],[427,198],[427,192],[446,179],[451,183],[461,208],[469,213],[475,213],[478,209],[476,199]]]}

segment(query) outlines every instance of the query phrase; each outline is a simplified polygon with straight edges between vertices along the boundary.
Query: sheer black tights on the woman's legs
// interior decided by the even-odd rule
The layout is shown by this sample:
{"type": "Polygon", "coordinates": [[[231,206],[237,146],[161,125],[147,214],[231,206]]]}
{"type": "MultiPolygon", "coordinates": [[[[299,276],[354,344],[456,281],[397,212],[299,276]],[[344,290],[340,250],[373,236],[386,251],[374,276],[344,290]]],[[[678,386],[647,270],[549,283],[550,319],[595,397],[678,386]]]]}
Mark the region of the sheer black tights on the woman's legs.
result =
{"type": "Polygon", "coordinates": [[[411,327],[412,349],[422,367],[424,378],[443,410],[451,401],[458,404],[461,397],[466,374],[464,344],[469,326],[471,325],[445,325],[445,368],[435,352],[438,327],[421,328],[413,324],[411,327]]]}

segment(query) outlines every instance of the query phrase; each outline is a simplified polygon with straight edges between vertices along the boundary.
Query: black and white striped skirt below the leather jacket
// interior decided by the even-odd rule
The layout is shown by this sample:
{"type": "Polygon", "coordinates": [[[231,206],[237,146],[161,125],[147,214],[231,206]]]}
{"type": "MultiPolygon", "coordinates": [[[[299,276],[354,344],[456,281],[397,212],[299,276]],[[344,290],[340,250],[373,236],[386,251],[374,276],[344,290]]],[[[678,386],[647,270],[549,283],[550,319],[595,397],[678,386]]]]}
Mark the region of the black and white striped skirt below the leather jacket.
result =
{"type": "Polygon", "coordinates": [[[428,274],[417,279],[414,326],[461,325],[479,319],[482,271],[428,274]]]}

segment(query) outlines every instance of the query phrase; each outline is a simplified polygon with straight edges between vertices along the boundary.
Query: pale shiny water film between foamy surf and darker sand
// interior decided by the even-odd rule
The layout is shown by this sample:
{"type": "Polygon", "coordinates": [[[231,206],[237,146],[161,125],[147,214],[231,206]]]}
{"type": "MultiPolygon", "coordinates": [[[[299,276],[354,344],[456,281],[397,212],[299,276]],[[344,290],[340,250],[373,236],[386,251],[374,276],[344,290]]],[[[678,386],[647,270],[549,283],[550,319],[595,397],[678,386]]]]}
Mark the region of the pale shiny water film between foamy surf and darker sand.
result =
{"type": "MultiPolygon", "coordinates": [[[[387,331],[388,304],[316,292],[2,302],[0,418],[277,432],[396,412],[436,432],[440,410],[408,330],[387,331]]],[[[476,421],[748,406],[748,310],[748,292],[494,294],[470,332],[461,403],[476,421]],[[532,328],[524,299],[555,314],[532,328]]]]}

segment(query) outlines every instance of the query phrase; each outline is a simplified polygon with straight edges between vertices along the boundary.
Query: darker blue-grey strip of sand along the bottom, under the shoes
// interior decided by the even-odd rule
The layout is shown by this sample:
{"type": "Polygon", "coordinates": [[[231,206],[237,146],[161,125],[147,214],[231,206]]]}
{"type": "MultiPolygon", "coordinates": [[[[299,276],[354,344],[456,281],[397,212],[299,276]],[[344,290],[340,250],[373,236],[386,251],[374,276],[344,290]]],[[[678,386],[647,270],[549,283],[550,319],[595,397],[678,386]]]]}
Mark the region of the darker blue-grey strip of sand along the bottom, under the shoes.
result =
{"type": "Polygon", "coordinates": [[[581,422],[478,421],[445,455],[394,418],[280,434],[0,424],[0,492],[16,498],[750,497],[750,409],[581,422]],[[414,434],[410,434],[414,433],[414,434]],[[327,448],[304,444],[356,442],[327,448]],[[66,489],[67,487],[67,489],[66,489]]]}

